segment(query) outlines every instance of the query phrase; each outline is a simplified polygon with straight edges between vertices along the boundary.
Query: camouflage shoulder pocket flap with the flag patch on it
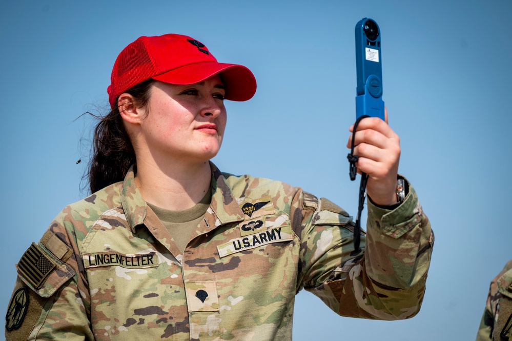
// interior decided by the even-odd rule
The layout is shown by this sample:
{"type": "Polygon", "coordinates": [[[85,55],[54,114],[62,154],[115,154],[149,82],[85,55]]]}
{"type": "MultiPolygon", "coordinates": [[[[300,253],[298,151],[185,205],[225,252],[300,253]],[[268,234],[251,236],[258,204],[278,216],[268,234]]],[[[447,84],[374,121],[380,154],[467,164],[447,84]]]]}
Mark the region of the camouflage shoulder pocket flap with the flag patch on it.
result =
{"type": "Polygon", "coordinates": [[[45,248],[43,243],[32,245],[16,264],[19,278],[41,297],[50,297],[75,275],[75,271],[45,248]]]}

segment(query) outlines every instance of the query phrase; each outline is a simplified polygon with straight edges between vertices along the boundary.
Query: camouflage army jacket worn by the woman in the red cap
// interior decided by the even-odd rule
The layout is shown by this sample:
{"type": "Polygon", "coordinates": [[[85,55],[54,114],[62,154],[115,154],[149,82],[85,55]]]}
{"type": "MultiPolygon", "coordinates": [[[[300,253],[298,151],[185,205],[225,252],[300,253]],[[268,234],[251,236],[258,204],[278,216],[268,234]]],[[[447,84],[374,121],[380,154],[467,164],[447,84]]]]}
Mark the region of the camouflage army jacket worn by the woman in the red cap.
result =
{"type": "Polygon", "coordinates": [[[17,264],[7,339],[290,340],[302,288],[343,316],[419,311],[434,236],[412,187],[393,211],[368,203],[359,252],[349,215],[300,188],[212,164],[212,193],[183,254],[132,170],[66,207],[17,264]]]}

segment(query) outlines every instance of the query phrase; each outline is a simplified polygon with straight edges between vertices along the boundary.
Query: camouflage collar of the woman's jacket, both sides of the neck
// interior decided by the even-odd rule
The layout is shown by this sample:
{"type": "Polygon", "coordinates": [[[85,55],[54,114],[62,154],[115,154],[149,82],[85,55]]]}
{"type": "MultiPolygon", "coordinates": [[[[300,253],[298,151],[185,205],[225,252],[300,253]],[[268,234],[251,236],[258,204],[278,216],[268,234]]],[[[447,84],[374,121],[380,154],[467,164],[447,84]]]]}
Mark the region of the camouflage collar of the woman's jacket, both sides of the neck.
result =
{"type": "MultiPolygon", "coordinates": [[[[243,220],[243,212],[233,196],[226,178],[212,162],[210,162],[210,168],[212,170],[212,203],[207,215],[211,209],[216,219],[215,224],[213,224],[214,226],[210,225],[208,230],[223,224],[241,222],[243,220]]],[[[134,166],[130,167],[125,176],[122,186],[121,205],[125,211],[128,225],[132,232],[135,233],[136,228],[144,224],[148,205],[135,182],[134,166]]]]}

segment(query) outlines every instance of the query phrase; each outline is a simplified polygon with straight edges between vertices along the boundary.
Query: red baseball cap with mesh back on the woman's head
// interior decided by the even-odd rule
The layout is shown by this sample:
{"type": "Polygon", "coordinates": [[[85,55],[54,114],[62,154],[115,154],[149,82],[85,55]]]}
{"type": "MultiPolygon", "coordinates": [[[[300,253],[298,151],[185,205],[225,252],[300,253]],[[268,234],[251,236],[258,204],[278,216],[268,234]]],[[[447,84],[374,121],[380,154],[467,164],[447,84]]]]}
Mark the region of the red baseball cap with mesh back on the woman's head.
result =
{"type": "Polygon", "coordinates": [[[206,46],[186,35],[141,36],[119,53],[107,88],[110,107],[120,94],[153,78],[170,84],[194,84],[220,73],[226,99],[247,101],[256,92],[251,70],[218,63],[206,46]]]}

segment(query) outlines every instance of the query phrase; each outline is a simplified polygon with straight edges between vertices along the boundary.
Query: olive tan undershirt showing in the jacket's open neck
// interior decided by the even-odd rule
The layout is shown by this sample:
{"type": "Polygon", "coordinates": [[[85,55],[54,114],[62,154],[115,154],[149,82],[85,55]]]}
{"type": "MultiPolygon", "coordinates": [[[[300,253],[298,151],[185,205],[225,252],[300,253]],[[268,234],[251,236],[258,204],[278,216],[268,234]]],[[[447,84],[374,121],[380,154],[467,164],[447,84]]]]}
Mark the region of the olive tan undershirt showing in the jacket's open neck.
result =
{"type": "Polygon", "coordinates": [[[162,222],[163,226],[167,228],[171,234],[174,242],[178,246],[181,254],[185,251],[187,244],[190,242],[190,237],[197,230],[197,226],[201,222],[204,214],[210,207],[212,202],[212,188],[208,189],[208,192],[194,207],[182,211],[171,211],[153,204],[148,203],[153,212],[162,222]]]}

